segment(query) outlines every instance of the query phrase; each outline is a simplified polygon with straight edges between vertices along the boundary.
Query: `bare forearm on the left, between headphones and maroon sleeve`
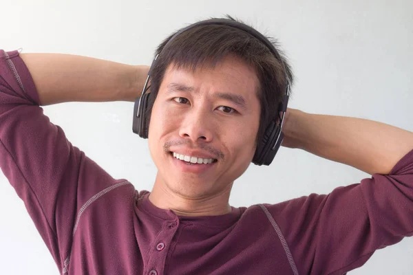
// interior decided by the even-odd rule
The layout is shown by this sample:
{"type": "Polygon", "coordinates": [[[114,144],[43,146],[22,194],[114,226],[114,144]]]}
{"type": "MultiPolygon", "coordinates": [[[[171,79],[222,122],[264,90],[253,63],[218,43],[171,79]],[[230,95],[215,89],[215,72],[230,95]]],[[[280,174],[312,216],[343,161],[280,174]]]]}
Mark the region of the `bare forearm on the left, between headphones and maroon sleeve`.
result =
{"type": "Polygon", "coordinates": [[[21,54],[41,105],[61,102],[134,101],[149,67],[70,54],[21,54]]]}

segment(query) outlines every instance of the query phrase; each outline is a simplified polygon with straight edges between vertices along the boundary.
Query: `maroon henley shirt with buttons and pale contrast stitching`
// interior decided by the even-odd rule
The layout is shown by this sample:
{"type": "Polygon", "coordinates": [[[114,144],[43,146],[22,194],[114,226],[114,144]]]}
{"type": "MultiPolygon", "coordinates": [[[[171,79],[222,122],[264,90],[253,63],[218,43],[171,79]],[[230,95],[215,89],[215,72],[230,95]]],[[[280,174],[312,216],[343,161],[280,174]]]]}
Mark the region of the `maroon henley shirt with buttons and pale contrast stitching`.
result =
{"type": "Polygon", "coordinates": [[[0,50],[0,167],[61,274],[345,274],[413,234],[413,150],[328,195],[215,217],[156,208],[50,122],[16,51],[0,50]]]}

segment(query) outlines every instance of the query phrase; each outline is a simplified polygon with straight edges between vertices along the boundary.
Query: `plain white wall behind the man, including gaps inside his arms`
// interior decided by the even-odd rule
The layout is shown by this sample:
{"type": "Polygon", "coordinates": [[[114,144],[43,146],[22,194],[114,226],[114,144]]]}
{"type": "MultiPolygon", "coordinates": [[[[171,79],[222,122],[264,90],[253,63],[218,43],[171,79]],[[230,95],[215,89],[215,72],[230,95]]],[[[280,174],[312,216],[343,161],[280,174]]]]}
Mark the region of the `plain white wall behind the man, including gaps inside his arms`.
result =
{"type": "MultiPolygon", "coordinates": [[[[149,65],[171,32],[231,14],[276,36],[297,76],[289,107],[377,120],[413,131],[413,2],[406,1],[1,1],[0,48],[59,52],[149,65]]],[[[147,140],[131,131],[133,103],[45,107],[69,140],[113,177],[151,190],[147,140]]],[[[231,205],[277,203],[370,175],[281,148],[268,167],[235,181],[231,205]]],[[[413,240],[377,251],[350,274],[413,274],[413,240]]],[[[23,202],[0,173],[0,274],[58,274],[23,202]]]]}

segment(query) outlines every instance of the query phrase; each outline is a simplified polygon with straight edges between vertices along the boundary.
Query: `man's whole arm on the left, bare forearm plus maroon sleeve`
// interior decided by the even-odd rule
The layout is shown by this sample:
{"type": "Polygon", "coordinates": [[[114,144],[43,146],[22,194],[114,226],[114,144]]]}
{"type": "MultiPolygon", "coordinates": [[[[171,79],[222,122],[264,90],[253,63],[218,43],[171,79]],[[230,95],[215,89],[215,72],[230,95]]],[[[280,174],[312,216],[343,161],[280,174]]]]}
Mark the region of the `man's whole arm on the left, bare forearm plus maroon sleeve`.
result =
{"type": "Polygon", "coordinates": [[[0,50],[0,168],[65,273],[85,203],[106,188],[134,188],[73,146],[39,105],[134,100],[146,75],[139,67],[82,56],[23,56],[27,64],[19,52],[0,50]]]}

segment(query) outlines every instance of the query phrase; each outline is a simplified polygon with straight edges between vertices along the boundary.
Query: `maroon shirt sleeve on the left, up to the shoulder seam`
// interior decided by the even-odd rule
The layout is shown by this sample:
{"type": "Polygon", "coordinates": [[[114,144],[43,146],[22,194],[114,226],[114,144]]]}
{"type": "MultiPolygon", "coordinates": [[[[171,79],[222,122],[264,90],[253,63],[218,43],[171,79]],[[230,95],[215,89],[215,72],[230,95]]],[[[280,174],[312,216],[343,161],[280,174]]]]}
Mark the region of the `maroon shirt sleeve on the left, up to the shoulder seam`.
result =
{"type": "Polygon", "coordinates": [[[17,51],[0,50],[0,168],[63,270],[78,211],[118,181],[72,146],[43,114],[17,51]]]}

